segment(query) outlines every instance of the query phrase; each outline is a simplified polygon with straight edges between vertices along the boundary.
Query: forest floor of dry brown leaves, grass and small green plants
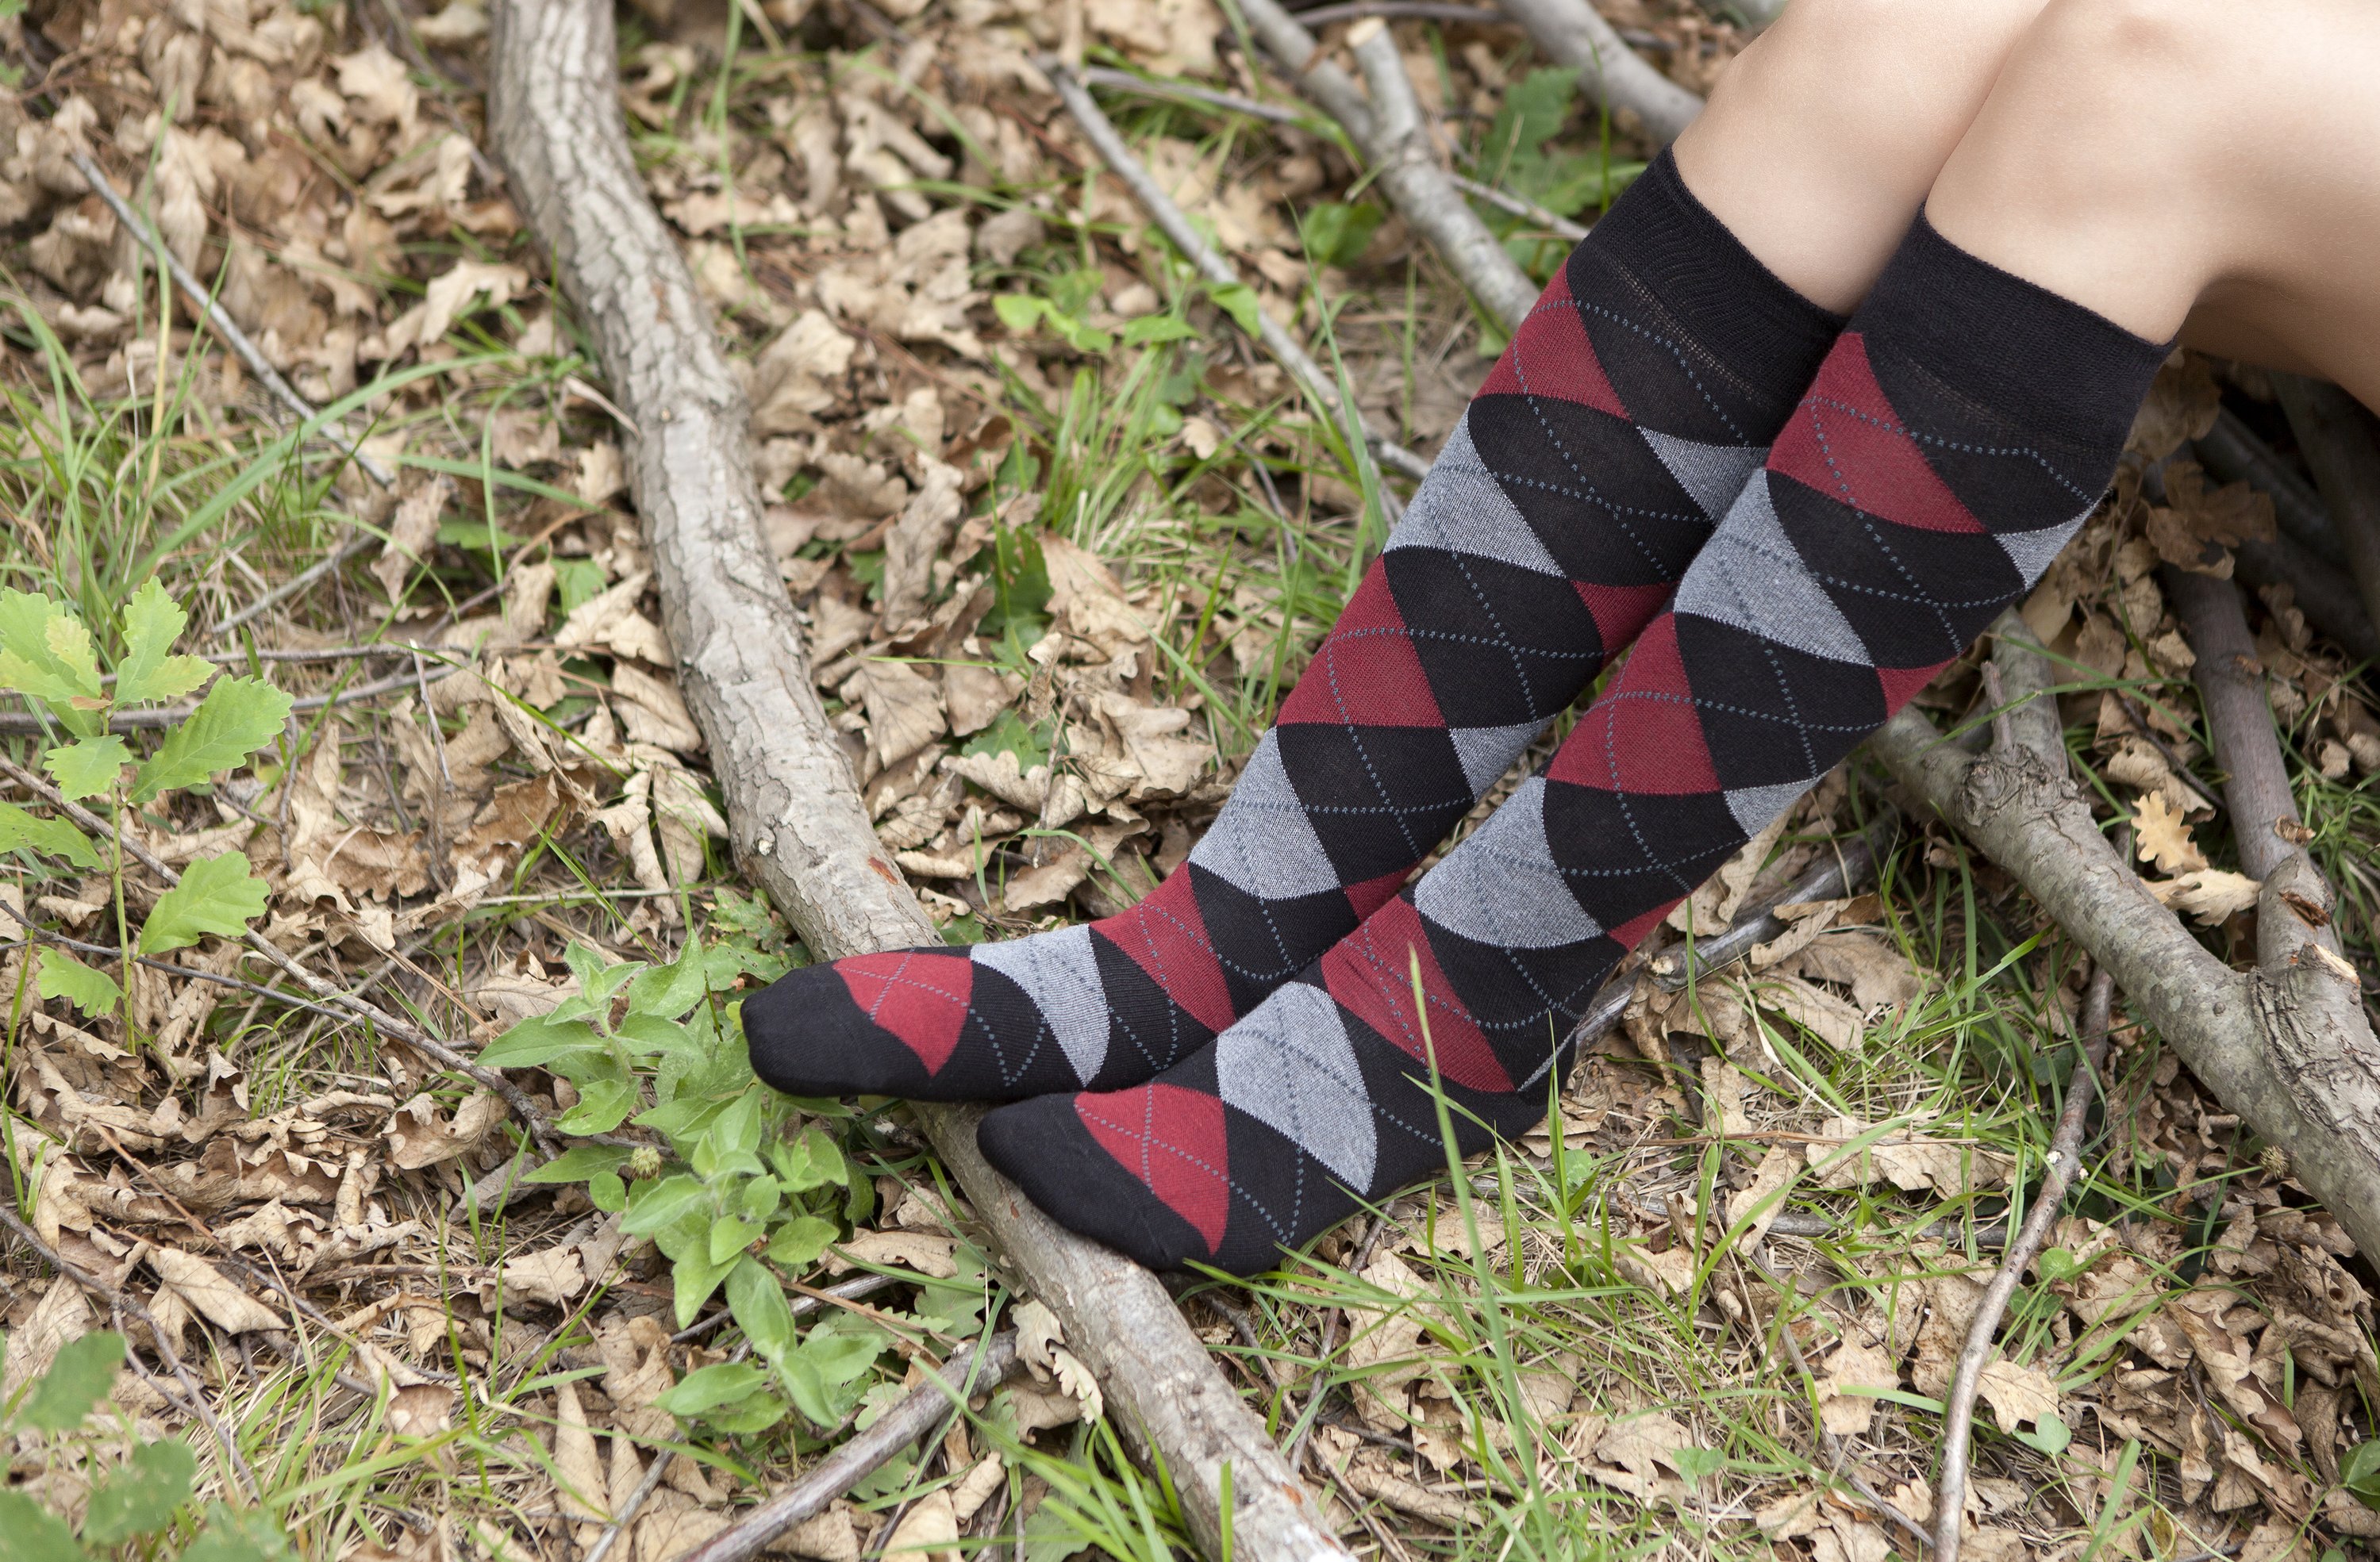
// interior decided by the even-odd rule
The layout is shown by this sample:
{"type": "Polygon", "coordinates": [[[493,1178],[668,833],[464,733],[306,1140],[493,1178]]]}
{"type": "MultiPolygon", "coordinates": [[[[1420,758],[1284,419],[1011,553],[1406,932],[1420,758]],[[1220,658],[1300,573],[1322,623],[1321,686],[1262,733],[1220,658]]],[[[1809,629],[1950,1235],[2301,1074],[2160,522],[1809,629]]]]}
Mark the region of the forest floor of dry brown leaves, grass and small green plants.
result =
{"type": "MultiPolygon", "coordinates": [[[[1502,342],[1228,7],[878,5],[638,0],[624,105],[747,373],[769,544],[883,844],[952,941],[1014,937],[1183,861],[1385,535],[1378,478],[1233,314],[1290,323],[1421,452],[1502,342]],[[1197,283],[1100,174],[1031,64],[1069,43],[1285,109],[1100,88],[1245,292],[1197,283]],[[931,549],[888,549],[919,516],[931,549]]],[[[1692,5],[1604,10],[1697,90],[1745,43],[1692,5]]],[[[40,1410],[45,1381],[12,1491],[107,1555],[202,1526],[269,1555],[238,1522],[262,1507],[309,1557],[671,1557],[1028,1298],[897,1103],[785,1103],[743,1063],[735,996],[807,956],[728,861],[628,435],[483,140],[486,14],[33,0],[0,31],[0,682],[24,694],[0,711],[0,901],[33,930],[0,965],[0,1127],[24,1227],[145,1303],[12,1241],[5,1393],[93,1360],[95,1331],[140,1360],[162,1334],[219,1424],[145,1365],[81,1422],[40,1410]],[[162,309],[76,147],[300,395],[369,426],[390,485],[162,309]],[[100,711],[157,716],[112,749],[100,711]],[[52,782],[126,844],[60,823],[52,782]],[[502,1096],[305,1001],[243,930],[497,1048],[583,1144],[521,1184],[502,1096]],[[597,1046],[557,1039],[578,1020],[597,1046]],[[738,1274],[800,1319],[762,1324],[738,1274]],[[747,1360],[766,1329],[776,1372],[747,1360]],[[93,1493],[150,1441],[195,1476],[143,1526],[121,1481],[93,1493]]],[[[1642,166],[1492,14],[1397,38],[1473,178],[1592,221],[1642,166]]],[[[1483,214],[1540,278],[1566,250],[1483,214]]],[[[2261,376],[2178,359],[2135,454],[2218,399],[2287,449],[2261,376]]],[[[2223,865],[2152,571],[2175,537],[2204,563],[2256,502],[2168,492],[2121,483],[2023,616],[2102,818],[2249,963],[2254,884],[2223,865]]],[[[2259,611],[2370,970],[2380,720],[2287,602],[2259,611]]],[[[1923,699],[1983,720],[1973,663],[1923,699]]],[[[1773,901],[1897,796],[1854,758],[1680,932],[1773,901]]],[[[1423,1189],[1273,1274],[1183,1289],[1359,1555],[1916,1555],[1880,1503],[1930,1514],[1949,1367],[2040,1182],[2087,960],[1916,818],[1871,884],[1785,915],[1687,989],[1640,965],[1559,1122],[1476,1160],[1466,1198],[1423,1189]]],[[[2354,1550],[2380,1533],[2356,1495],[2380,1500],[2373,1270],[2121,994],[2104,1094],[1985,1379],[1968,1548],[2354,1550]]],[[[793,1548],[1188,1555],[1164,1472],[1071,1374],[1012,1381],[793,1548]]]]}

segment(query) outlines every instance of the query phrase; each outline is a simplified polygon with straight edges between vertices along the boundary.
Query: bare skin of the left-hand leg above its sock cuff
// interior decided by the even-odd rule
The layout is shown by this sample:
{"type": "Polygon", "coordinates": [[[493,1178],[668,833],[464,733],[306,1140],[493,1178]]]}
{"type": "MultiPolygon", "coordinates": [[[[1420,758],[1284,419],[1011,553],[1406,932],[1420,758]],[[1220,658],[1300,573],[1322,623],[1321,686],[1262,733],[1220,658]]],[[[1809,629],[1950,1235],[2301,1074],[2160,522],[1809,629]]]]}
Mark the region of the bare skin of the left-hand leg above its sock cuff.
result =
{"type": "Polygon", "coordinates": [[[1792,0],[1678,138],[1678,171],[1790,288],[1849,314],[2042,5],[1792,0]]]}

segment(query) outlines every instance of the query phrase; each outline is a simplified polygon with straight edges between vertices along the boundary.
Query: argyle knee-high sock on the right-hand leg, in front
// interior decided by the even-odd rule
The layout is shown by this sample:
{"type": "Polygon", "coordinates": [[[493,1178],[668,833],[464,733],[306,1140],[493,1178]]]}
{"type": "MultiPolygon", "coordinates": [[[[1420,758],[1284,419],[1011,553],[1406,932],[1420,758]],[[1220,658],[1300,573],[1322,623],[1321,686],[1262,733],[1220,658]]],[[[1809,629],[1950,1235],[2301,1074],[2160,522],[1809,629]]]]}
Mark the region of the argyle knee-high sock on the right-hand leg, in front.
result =
{"type": "Polygon", "coordinates": [[[1197,1056],[985,1155],[1150,1267],[1252,1272],[1445,1167],[1433,1063],[1461,1148],[1537,1122],[1618,956],[2049,566],[2163,354],[1921,219],[1545,775],[1197,1056]]]}

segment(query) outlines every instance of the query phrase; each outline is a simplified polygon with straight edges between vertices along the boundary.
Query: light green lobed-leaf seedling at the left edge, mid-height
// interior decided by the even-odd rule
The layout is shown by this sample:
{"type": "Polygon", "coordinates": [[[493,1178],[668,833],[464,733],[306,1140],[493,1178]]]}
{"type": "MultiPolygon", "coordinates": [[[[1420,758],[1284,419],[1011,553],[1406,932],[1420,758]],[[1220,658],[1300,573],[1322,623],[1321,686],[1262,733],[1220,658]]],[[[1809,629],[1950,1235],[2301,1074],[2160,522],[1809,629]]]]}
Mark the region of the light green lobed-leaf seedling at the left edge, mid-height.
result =
{"type": "MultiPolygon", "coordinates": [[[[140,582],[109,625],[117,651],[102,673],[100,644],[74,609],[36,592],[0,592],[0,687],[40,713],[50,732],[40,768],[69,801],[93,799],[121,818],[169,792],[207,785],[281,735],[290,697],[262,678],[217,678],[209,661],[176,654],[188,621],[155,578],[140,582]],[[148,756],[107,730],[117,713],[178,701],[200,685],[207,694],[164,728],[148,756]]],[[[248,873],[248,858],[236,851],[190,863],[133,934],[121,856],[105,858],[71,823],[0,804],[0,849],[109,870],[126,960],[133,951],[186,949],[207,934],[240,937],[264,915],[264,880],[248,873]]],[[[124,1001],[114,977],[60,946],[40,951],[38,991],[86,1015],[114,1013],[124,1001]]]]}

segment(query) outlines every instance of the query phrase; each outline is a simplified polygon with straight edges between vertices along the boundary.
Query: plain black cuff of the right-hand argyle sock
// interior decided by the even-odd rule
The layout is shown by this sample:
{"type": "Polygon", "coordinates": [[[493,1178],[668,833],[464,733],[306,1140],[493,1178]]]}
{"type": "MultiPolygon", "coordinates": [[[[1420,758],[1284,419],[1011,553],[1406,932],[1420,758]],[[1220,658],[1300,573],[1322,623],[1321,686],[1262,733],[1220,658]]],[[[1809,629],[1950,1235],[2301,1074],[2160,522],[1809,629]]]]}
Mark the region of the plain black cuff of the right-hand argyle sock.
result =
{"type": "Polygon", "coordinates": [[[2097,309],[1968,254],[1923,212],[1852,330],[1956,378],[1994,411],[2090,449],[2123,447],[2149,380],[2173,352],[2173,342],[2132,335],[2097,309]]]}

